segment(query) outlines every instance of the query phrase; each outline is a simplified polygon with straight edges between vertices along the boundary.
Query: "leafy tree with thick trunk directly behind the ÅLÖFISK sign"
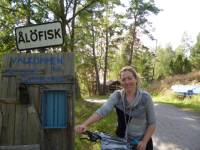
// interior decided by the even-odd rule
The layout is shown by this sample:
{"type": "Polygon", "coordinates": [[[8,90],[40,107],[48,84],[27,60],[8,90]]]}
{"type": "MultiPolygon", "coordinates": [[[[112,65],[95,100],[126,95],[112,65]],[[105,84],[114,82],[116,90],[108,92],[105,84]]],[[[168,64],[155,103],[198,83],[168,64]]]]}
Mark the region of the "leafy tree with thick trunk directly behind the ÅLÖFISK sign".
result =
{"type": "MultiPolygon", "coordinates": [[[[76,17],[85,9],[97,3],[102,3],[102,1],[103,0],[1,0],[1,29],[2,31],[7,30],[7,32],[4,33],[7,36],[10,35],[14,39],[14,28],[19,25],[59,20],[62,21],[63,35],[65,38],[62,51],[74,51],[76,17]]],[[[15,42],[12,40],[10,43],[15,42]]],[[[5,45],[8,44],[6,43],[5,45]]]]}

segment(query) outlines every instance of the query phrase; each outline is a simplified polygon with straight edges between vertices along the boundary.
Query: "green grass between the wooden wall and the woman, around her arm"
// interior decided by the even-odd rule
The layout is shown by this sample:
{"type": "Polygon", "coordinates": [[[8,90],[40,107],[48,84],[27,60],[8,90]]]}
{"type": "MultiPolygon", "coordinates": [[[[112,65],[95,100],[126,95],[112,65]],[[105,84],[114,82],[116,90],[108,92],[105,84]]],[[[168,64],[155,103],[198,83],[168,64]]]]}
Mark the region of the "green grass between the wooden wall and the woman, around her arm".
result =
{"type": "MultiPolygon", "coordinates": [[[[96,97],[95,97],[96,98],[96,97]]],[[[79,100],[76,102],[75,109],[75,122],[76,124],[82,123],[85,119],[87,119],[93,112],[95,112],[101,104],[89,103],[83,100],[79,100]]],[[[116,129],[116,114],[113,110],[107,117],[100,120],[99,122],[90,126],[89,130],[91,131],[102,131],[107,132],[114,135],[116,129]]],[[[85,139],[81,139],[84,135],[76,135],[75,137],[75,150],[100,150],[99,143],[92,143],[85,139]]]]}

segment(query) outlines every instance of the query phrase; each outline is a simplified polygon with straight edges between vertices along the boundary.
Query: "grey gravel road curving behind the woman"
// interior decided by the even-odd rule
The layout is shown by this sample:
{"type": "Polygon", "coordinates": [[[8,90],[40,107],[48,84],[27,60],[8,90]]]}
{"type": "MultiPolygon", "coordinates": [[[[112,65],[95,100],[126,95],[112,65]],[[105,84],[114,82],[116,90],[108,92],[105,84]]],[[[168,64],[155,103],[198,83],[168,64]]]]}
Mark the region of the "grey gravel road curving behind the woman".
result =
{"type": "MultiPolygon", "coordinates": [[[[106,100],[86,100],[104,103],[106,100]]],[[[154,150],[200,150],[200,114],[155,104],[157,117],[154,150]]]]}

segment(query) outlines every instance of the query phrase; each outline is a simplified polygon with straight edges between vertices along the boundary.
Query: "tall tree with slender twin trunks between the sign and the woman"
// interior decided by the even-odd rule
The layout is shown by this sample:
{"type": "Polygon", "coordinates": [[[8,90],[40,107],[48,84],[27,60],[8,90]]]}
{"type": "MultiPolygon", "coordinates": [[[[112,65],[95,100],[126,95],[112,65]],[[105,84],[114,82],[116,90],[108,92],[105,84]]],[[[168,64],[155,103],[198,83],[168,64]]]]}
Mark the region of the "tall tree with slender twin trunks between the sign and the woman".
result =
{"type": "MultiPolygon", "coordinates": [[[[106,92],[107,73],[110,70],[110,61],[112,61],[114,51],[117,49],[119,42],[117,30],[119,28],[117,15],[113,13],[114,4],[118,1],[109,1],[106,4],[94,6],[85,11],[84,20],[80,20],[79,27],[85,32],[87,39],[84,40],[84,47],[91,49],[93,58],[93,67],[96,76],[97,93],[104,94],[106,92]],[[91,19],[92,18],[92,19],[91,19]],[[84,28],[86,27],[86,28],[84,28]],[[116,38],[117,37],[117,38],[116,38]],[[100,77],[102,77],[103,85],[100,86],[100,77]]],[[[83,54],[83,53],[82,53],[83,54]]],[[[87,63],[87,62],[85,62],[87,63]]],[[[96,92],[94,92],[96,93],[96,92]]]]}

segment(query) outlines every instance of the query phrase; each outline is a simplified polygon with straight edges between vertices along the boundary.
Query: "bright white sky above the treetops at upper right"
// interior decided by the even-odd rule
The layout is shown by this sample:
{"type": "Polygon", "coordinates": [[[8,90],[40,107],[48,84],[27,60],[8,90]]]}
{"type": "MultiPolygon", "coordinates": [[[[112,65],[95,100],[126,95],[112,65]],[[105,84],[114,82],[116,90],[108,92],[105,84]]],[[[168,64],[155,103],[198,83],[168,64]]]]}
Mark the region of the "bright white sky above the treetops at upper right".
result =
{"type": "MultiPolygon", "coordinates": [[[[193,42],[200,32],[199,0],[154,0],[158,8],[163,9],[150,18],[155,31],[157,45],[165,47],[168,43],[175,49],[181,44],[186,32],[193,42]]],[[[150,45],[153,41],[149,42],[150,45]]],[[[154,41],[155,43],[155,41],[154,41]]]]}

